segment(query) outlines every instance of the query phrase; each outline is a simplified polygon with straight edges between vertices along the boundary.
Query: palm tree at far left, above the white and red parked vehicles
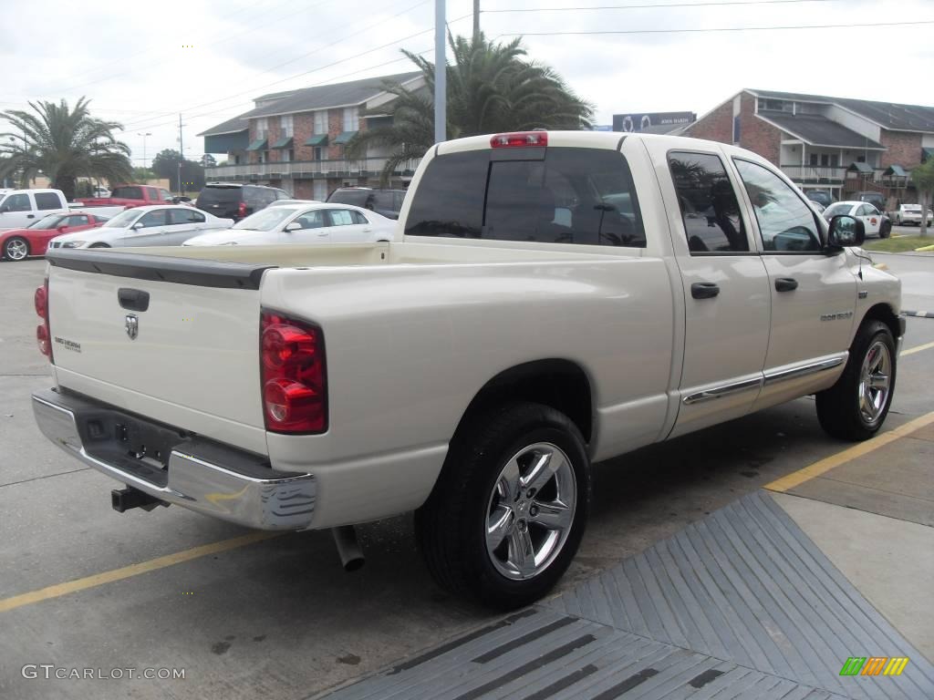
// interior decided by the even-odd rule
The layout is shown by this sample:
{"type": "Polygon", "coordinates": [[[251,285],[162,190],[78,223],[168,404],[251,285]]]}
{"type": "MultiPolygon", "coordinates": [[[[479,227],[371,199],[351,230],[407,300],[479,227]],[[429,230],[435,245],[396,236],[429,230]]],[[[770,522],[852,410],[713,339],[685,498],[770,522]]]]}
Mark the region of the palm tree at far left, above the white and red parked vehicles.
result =
{"type": "Polygon", "coordinates": [[[75,196],[79,176],[111,183],[130,179],[130,148],[113,134],[122,126],[92,117],[89,104],[82,97],[74,109],[62,100],[57,105],[31,102],[32,112],[0,112],[0,119],[7,119],[15,130],[0,133],[0,177],[18,175],[25,187],[42,172],[69,200],[75,196]]]}

